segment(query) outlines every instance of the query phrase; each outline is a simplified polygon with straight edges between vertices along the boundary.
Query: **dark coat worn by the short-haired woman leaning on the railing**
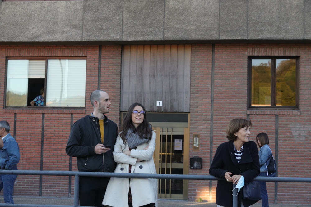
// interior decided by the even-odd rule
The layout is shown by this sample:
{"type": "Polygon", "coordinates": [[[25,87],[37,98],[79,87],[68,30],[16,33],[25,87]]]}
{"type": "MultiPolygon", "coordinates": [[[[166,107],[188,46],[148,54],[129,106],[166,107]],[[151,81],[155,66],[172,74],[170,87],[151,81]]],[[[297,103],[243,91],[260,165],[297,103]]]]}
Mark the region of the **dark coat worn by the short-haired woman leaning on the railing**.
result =
{"type": "MultiPolygon", "coordinates": [[[[243,144],[243,154],[240,162],[235,158],[233,141],[219,145],[210,167],[210,174],[217,178],[225,178],[226,172],[232,175],[243,175],[244,183],[256,178],[260,173],[259,156],[256,143],[253,141],[243,144]]],[[[232,206],[232,182],[218,180],[216,187],[216,203],[221,206],[232,206]]],[[[243,187],[238,194],[238,206],[243,195],[243,187]]],[[[256,201],[242,200],[244,207],[256,203],[256,201]]]]}

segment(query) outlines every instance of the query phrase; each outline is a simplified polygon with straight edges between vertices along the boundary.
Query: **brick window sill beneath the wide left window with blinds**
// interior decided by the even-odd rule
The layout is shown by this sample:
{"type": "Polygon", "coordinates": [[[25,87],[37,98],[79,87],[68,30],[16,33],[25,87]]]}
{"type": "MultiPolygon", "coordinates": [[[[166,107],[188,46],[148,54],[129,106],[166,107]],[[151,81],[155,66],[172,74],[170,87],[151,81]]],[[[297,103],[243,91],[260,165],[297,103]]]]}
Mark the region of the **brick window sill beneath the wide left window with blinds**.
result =
{"type": "Polygon", "coordinates": [[[44,106],[29,106],[29,107],[6,107],[3,113],[21,113],[21,114],[85,114],[85,107],[81,108],[65,108],[65,107],[44,107],[44,106]]]}

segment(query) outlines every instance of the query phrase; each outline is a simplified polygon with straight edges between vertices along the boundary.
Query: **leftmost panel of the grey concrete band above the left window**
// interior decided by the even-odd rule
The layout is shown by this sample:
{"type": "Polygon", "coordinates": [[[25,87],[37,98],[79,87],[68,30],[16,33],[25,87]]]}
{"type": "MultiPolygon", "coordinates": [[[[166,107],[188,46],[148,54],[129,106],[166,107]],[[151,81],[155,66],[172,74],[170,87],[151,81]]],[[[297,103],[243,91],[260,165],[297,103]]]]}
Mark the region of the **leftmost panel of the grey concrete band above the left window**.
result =
{"type": "Polygon", "coordinates": [[[82,1],[0,2],[0,41],[81,41],[82,1]]]}

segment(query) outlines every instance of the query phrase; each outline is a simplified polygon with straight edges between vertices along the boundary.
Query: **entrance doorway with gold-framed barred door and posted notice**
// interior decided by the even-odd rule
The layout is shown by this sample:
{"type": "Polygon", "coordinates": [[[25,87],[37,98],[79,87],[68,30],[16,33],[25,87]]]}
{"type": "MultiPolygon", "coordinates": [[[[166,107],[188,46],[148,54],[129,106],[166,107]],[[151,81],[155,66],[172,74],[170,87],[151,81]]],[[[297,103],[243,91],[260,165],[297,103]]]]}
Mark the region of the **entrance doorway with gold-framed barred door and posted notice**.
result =
{"type": "MultiPolygon", "coordinates": [[[[151,113],[156,131],[154,160],[158,174],[189,173],[189,114],[151,113]]],[[[188,199],[188,180],[158,179],[158,198],[188,199]]]]}

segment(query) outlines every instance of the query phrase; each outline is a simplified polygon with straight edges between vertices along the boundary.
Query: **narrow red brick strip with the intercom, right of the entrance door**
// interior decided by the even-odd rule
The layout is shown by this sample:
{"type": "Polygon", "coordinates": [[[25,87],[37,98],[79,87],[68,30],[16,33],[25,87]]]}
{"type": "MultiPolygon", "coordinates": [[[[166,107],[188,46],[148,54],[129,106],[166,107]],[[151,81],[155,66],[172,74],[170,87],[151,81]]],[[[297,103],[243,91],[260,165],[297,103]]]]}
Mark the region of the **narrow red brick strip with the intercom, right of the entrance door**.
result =
{"type": "MultiPolygon", "coordinates": [[[[211,124],[211,45],[191,46],[190,144],[189,157],[202,158],[202,169],[189,169],[189,174],[208,174],[211,124]],[[193,134],[200,134],[199,151],[193,151],[193,134]]],[[[188,198],[207,200],[209,181],[189,180],[188,198]]]]}

